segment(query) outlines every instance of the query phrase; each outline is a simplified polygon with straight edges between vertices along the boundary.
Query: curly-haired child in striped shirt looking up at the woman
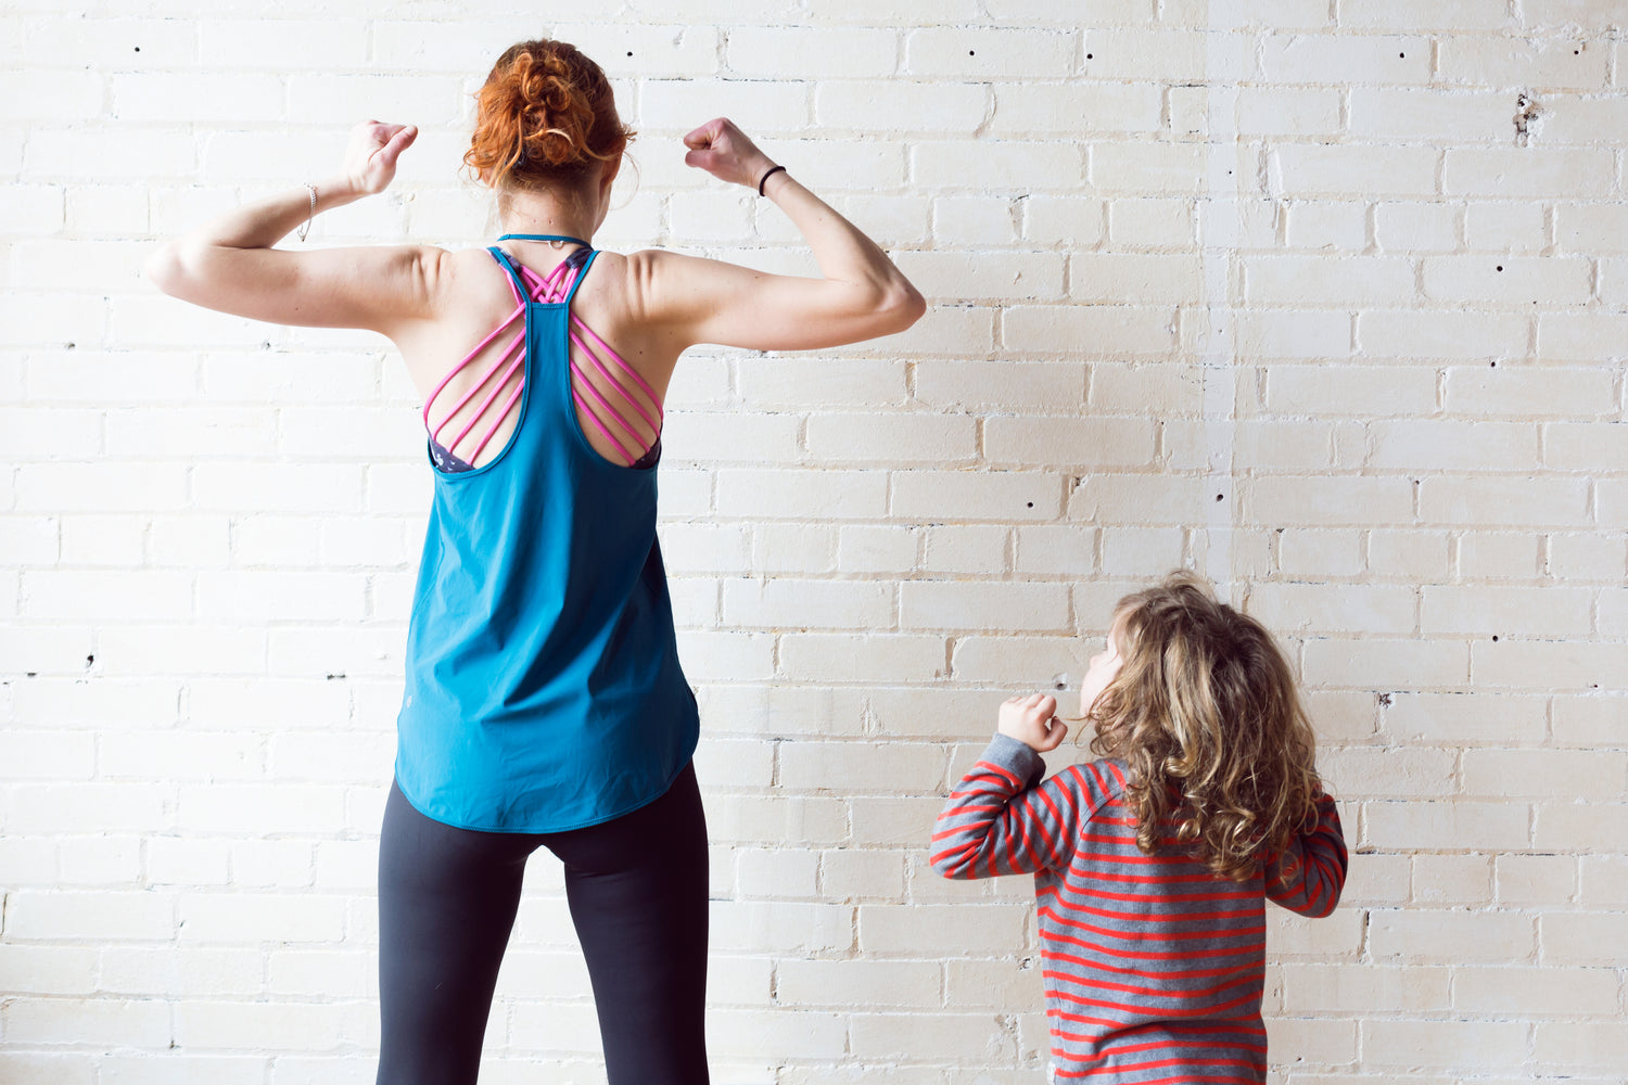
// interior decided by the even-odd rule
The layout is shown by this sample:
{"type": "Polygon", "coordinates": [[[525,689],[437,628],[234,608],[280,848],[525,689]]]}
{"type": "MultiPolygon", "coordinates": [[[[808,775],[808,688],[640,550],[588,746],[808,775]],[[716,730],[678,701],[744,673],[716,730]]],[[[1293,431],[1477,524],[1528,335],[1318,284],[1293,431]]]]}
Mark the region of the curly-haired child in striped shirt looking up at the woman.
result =
{"type": "Polygon", "coordinates": [[[1035,786],[1055,711],[1001,704],[933,869],[1035,875],[1053,1080],[1265,1082],[1265,900],[1327,916],[1346,865],[1283,654],[1175,573],[1120,600],[1081,683],[1102,760],[1035,786]]]}

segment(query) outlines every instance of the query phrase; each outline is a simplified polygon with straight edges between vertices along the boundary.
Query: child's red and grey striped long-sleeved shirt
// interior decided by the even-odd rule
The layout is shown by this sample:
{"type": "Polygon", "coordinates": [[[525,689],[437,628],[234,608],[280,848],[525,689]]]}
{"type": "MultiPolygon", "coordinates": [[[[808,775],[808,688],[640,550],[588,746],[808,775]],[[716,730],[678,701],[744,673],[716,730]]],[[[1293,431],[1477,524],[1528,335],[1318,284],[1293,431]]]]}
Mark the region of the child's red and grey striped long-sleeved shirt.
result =
{"type": "Polygon", "coordinates": [[[1052,1074],[1125,1085],[1267,1080],[1265,901],[1327,916],[1345,885],[1345,838],[1327,795],[1317,823],[1247,882],[1175,846],[1136,848],[1123,761],[1045,765],[995,735],[933,831],[946,878],[1034,874],[1052,1074]]]}

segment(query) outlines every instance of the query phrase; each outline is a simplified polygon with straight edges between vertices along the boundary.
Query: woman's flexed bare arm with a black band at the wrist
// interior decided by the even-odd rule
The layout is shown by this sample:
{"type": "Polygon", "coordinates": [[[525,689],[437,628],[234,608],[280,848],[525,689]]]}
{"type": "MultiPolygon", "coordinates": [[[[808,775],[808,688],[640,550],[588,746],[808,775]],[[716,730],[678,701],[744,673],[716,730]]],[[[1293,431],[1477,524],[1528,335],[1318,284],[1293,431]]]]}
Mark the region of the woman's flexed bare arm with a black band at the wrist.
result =
{"type": "Polygon", "coordinates": [[[874,241],[777,169],[720,117],[684,137],[684,161],[720,181],[764,187],[803,233],[822,278],[770,275],[721,260],[646,251],[628,257],[632,293],[648,320],[681,342],[751,350],[817,350],[902,332],[926,303],[874,241]]]}

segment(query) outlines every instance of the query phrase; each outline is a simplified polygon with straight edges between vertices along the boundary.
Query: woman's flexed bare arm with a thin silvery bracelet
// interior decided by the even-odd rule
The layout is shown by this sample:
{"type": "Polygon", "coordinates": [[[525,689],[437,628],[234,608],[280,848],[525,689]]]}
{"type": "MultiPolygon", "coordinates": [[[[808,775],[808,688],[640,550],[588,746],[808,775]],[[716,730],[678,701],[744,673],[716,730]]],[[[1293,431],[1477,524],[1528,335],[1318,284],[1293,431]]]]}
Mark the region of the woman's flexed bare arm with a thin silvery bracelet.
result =
{"type": "Polygon", "coordinates": [[[247,203],[176,241],[143,268],[166,294],[272,324],[360,327],[392,335],[433,316],[446,252],[428,246],[274,249],[311,215],[383,192],[414,125],[366,120],[350,133],[339,174],[247,203]]]}

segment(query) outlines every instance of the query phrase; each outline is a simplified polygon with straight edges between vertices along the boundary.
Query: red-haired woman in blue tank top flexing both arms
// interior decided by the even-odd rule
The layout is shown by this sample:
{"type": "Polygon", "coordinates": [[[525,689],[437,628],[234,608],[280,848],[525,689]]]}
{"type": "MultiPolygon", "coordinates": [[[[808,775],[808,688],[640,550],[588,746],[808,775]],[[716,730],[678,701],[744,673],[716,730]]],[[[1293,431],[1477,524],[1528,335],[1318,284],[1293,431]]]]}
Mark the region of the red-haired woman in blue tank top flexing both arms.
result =
{"type": "Polygon", "coordinates": [[[606,1065],[707,1080],[707,830],[656,547],[661,400],[695,343],[811,350],[899,332],[921,296],[868,237],[718,119],[685,163],[757,189],[822,278],[596,252],[632,132],[599,67],[505,52],[466,163],[501,247],[274,249],[384,190],[417,130],[366,122],[340,172],[166,244],[161,290],[238,316],[387,335],[425,399],[435,501],[379,841],[379,1082],[474,1082],[526,857],[565,862],[606,1065]]]}

